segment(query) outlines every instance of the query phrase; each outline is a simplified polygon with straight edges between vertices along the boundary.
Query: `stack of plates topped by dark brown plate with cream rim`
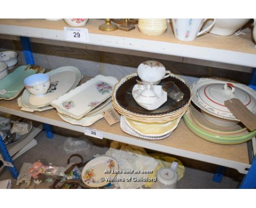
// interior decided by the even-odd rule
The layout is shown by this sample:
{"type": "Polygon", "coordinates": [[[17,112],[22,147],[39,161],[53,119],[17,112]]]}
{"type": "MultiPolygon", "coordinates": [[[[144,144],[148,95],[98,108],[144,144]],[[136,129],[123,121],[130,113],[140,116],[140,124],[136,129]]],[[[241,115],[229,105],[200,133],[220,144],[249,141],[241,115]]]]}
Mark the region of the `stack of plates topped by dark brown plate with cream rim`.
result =
{"type": "Polygon", "coordinates": [[[180,77],[171,76],[161,80],[159,85],[174,82],[184,93],[183,99],[176,102],[169,97],[158,109],[148,111],[139,106],[132,97],[132,88],[139,80],[137,73],[122,78],[112,93],[114,108],[121,114],[121,129],[132,136],[144,139],[163,139],[176,129],[181,117],[191,101],[191,91],[180,77]]]}

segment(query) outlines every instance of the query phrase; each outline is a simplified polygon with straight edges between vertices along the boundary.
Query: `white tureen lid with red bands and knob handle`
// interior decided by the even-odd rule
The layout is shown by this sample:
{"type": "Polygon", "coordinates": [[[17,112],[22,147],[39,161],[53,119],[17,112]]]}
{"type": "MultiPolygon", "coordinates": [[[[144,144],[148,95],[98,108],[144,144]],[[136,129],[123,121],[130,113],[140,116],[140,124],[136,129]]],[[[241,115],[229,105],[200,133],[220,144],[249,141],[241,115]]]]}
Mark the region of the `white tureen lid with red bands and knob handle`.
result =
{"type": "Polygon", "coordinates": [[[226,100],[237,98],[249,111],[256,114],[256,92],[244,84],[201,78],[193,84],[193,102],[210,114],[223,118],[236,118],[224,105],[226,100]]]}

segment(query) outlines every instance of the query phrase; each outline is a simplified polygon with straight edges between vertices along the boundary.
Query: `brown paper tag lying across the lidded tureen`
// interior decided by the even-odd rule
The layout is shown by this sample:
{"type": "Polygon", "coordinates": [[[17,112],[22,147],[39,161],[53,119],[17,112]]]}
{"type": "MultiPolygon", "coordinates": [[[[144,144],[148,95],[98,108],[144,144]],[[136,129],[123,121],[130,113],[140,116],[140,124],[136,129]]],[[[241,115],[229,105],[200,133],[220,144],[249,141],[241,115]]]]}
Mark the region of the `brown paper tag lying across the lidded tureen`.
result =
{"type": "Polygon", "coordinates": [[[229,111],[239,119],[243,125],[245,125],[249,130],[254,131],[256,129],[256,115],[254,115],[249,109],[243,105],[243,103],[236,99],[232,98],[226,100],[225,106],[229,111]]]}

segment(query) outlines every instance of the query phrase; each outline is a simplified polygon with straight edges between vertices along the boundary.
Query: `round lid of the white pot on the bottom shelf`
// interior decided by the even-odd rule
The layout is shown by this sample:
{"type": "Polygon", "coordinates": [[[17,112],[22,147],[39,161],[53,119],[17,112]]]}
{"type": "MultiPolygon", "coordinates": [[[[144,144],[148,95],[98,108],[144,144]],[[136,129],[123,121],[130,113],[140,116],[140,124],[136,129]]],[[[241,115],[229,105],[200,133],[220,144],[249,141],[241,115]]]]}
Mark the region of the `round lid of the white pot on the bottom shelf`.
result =
{"type": "Polygon", "coordinates": [[[158,182],[168,186],[178,181],[178,175],[171,168],[161,168],[156,173],[158,182]]]}

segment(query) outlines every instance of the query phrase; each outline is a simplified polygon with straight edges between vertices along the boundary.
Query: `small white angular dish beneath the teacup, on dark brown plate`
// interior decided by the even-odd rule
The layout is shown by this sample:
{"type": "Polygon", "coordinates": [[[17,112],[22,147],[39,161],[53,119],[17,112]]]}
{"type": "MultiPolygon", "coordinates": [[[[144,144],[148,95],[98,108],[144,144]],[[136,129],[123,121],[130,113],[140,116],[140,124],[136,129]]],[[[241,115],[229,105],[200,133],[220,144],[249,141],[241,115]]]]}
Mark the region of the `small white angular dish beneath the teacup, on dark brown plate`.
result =
{"type": "Polygon", "coordinates": [[[139,106],[153,111],[159,108],[162,104],[167,101],[167,93],[162,89],[161,85],[153,85],[154,97],[143,96],[145,85],[135,84],[132,88],[132,97],[138,103],[139,106]]]}

